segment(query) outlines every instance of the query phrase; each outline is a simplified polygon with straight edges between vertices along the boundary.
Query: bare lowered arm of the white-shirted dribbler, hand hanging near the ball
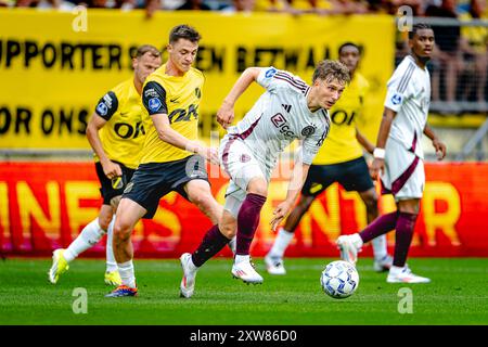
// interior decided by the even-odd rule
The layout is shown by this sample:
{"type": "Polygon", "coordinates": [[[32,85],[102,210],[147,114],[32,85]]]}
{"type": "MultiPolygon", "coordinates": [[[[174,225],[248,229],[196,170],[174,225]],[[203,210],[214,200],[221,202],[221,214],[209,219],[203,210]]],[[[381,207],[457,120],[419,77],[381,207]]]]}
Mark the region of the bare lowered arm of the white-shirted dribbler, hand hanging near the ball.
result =
{"type": "Polygon", "coordinates": [[[292,178],[288,183],[288,191],[286,193],[286,200],[282,202],[273,211],[273,218],[271,219],[271,229],[275,230],[284,217],[290,213],[292,207],[298,197],[298,194],[304,187],[307,179],[308,169],[310,165],[304,163],[296,163],[293,168],[292,178]]]}

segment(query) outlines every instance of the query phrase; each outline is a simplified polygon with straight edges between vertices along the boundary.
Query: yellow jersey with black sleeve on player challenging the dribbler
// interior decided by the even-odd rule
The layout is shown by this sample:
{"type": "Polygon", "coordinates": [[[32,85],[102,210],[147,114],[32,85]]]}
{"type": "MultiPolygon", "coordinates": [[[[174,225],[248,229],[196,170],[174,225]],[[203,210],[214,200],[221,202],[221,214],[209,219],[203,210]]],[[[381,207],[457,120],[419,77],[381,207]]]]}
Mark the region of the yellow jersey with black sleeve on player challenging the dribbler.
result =
{"type": "Polygon", "coordinates": [[[166,64],[151,74],[142,88],[144,129],[147,131],[141,164],[183,159],[193,153],[180,150],[159,139],[151,116],[168,115],[171,128],[189,140],[198,138],[198,106],[204,76],[190,68],[183,76],[166,74],[166,64]]]}

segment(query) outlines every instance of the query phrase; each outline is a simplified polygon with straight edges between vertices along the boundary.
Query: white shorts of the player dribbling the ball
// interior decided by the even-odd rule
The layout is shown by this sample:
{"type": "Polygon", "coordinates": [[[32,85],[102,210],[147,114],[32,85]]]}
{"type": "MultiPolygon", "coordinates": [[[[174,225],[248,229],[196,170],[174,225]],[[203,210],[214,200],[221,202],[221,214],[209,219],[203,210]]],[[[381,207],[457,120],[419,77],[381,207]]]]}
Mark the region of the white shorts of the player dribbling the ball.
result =
{"type": "Polygon", "coordinates": [[[266,165],[255,158],[247,145],[232,134],[226,134],[220,142],[219,158],[223,169],[231,178],[226,192],[223,209],[237,218],[251,180],[259,177],[269,182],[271,174],[266,169],[266,165]]]}

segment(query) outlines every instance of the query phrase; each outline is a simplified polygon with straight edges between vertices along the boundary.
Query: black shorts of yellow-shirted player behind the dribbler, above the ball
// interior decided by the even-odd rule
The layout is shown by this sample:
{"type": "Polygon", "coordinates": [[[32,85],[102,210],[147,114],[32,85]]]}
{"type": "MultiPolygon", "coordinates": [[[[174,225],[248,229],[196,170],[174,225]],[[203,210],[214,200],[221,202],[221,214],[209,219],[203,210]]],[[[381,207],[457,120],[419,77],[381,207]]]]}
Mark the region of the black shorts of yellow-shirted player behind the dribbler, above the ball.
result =
{"type": "Polygon", "coordinates": [[[311,165],[301,194],[317,196],[332,183],[338,182],[346,191],[365,192],[374,187],[364,157],[331,165],[311,165]]]}

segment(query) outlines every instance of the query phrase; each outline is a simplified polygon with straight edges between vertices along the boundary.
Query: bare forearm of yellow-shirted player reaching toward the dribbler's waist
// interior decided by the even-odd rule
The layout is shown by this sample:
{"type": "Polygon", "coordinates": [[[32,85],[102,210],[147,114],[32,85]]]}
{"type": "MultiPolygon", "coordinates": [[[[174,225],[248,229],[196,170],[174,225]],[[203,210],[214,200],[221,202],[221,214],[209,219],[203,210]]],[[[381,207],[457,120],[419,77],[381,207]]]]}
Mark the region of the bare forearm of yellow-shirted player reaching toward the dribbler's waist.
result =
{"type": "Polygon", "coordinates": [[[208,149],[207,146],[200,144],[197,141],[189,140],[172,129],[167,114],[154,114],[151,118],[153,119],[154,127],[157,130],[157,136],[162,141],[165,141],[180,150],[200,154],[211,164],[219,164],[217,151],[215,149],[208,149]]]}

